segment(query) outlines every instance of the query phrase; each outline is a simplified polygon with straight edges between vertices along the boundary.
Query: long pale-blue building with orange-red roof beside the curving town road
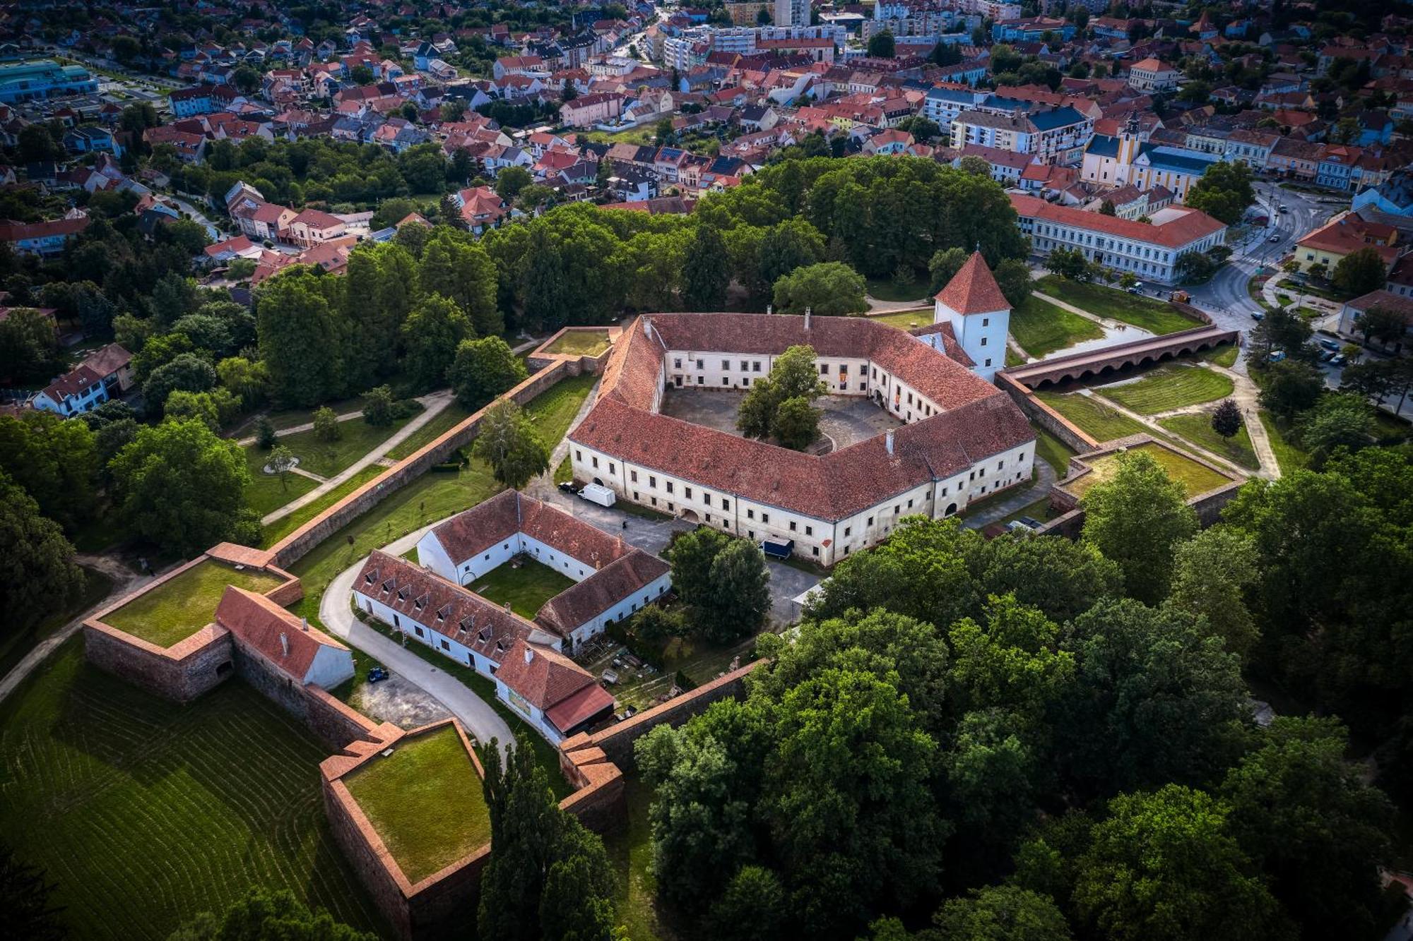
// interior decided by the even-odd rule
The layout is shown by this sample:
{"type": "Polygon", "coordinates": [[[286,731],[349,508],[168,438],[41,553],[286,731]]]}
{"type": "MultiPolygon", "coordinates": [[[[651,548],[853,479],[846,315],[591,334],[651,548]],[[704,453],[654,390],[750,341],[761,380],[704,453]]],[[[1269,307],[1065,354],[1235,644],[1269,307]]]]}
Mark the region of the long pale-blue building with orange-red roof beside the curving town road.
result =
{"type": "Polygon", "coordinates": [[[1225,223],[1187,206],[1167,206],[1152,213],[1150,222],[1137,222],[1023,194],[1010,194],[1010,205],[1039,254],[1078,249],[1098,264],[1160,284],[1177,281],[1174,266],[1183,254],[1207,251],[1226,240],[1225,223]]]}

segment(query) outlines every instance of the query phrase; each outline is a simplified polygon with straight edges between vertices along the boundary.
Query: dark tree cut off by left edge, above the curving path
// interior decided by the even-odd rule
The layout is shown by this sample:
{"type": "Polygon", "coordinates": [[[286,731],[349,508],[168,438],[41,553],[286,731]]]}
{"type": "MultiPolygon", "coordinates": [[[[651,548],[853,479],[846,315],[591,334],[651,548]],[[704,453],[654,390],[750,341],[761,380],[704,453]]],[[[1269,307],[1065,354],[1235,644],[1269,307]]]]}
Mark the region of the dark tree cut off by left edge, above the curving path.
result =
{"type": "MultiPolygon", "coordinates": [[[[6,633],[30,630],[83,589],[83,569],[73,561],[73,545],[40,504],[10,475],[0,470],[0,551],[10,576],[0,586],[6,633]]],[[[3,866],[0,866],[3,872],[3,866]]]]}

